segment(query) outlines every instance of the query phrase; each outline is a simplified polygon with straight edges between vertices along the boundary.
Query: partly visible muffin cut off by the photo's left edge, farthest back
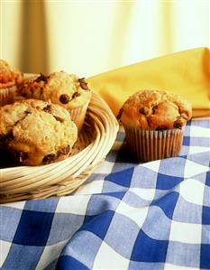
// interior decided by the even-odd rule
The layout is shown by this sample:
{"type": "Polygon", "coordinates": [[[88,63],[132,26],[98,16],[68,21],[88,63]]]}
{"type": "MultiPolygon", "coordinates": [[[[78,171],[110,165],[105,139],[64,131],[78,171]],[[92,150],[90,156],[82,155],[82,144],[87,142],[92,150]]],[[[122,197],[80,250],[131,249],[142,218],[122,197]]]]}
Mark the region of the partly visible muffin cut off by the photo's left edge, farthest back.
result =
{"type": "Polygon", "coordinates": [[[12,70],[6,61],[0,60],[0,106],[13,103],[16,87],[22,81],[20,71],[12,70]]]}

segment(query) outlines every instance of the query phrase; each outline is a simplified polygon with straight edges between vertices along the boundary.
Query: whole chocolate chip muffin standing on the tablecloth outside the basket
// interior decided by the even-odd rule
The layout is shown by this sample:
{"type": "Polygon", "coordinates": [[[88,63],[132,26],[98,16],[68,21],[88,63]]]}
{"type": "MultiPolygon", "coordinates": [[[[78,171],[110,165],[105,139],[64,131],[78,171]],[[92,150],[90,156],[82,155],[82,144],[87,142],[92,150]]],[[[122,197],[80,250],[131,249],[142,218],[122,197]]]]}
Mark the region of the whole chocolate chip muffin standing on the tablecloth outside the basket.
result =
{"type": "Polygon", "coordinates": [[[142,162],[179,154],[183,131],[192,116],[184,98],[161,90],[142,90],[128,98],[117,116],[127,144],[142,162]]]}

